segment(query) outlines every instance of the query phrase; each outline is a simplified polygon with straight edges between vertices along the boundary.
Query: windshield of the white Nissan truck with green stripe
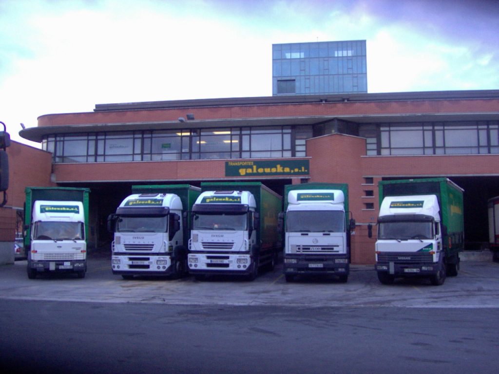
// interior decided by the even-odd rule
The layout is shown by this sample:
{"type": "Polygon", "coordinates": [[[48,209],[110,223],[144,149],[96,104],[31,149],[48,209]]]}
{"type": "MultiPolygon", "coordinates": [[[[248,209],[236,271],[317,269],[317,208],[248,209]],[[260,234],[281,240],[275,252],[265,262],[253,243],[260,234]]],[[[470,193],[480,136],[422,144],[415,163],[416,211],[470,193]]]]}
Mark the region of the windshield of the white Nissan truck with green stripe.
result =
{"type": "Polygon", "coordinates": [[[432,227],[430,221],[379,222],[378,239],[432,239],[432,227]]]}

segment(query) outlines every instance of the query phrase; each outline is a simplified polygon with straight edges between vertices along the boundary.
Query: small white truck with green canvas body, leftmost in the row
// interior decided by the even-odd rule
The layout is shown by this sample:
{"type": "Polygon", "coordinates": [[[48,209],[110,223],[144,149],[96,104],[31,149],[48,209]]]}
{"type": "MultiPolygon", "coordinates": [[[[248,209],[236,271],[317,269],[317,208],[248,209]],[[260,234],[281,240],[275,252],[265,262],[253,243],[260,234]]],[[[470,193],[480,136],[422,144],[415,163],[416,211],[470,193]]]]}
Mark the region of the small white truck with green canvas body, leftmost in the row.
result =
{"type": "Polygon", "coordinates": [[[24,248],[29,279],[43,272],[87,270],[90,189],[26,187],[24,248]]]}

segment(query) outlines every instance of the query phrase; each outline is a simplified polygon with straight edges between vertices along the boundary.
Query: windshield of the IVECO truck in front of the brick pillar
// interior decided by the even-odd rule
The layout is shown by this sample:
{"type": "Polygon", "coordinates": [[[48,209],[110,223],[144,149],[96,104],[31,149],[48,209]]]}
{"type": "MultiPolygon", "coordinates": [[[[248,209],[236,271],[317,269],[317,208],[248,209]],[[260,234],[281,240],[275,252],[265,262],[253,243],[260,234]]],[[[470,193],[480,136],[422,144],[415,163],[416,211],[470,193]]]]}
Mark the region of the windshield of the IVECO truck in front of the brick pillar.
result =
{"type": "Polygon", "coordinates": [[[288,211],[287,232],[344,232],[345,215],[341,210],[288,211]]]}

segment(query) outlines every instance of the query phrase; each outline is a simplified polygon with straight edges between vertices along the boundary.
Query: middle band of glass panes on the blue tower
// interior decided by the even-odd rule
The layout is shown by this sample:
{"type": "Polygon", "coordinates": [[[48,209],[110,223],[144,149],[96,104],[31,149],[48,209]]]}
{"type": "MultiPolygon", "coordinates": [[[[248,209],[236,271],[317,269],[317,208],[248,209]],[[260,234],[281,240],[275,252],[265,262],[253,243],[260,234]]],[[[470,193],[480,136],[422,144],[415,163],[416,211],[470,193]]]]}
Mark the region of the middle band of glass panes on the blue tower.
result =
{"type": "Polygon", "coordinates": [[[367,74],[365,57],[273,60],[274,77],[320,74],[367,74]]]}

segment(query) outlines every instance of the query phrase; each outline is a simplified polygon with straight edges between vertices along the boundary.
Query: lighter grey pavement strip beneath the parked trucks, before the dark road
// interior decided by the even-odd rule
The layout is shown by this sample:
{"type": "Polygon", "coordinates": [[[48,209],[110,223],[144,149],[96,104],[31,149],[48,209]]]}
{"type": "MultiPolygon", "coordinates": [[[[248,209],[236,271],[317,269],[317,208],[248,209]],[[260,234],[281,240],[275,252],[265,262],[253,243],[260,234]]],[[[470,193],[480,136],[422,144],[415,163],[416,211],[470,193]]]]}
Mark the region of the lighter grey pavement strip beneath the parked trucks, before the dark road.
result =
{"type": "Polygon", "coordinates": [[[303,278],[286,283],[282,264],[253,281],[237,277],[124,280],[111,272],[110,258],[88,260],[84,279],[73,274],[49,274],[28,279],[26,261],[0,266],[0,299],[171,305],[233,305],[286,307],[422,307],[499,308],[499,264],[461,262],[457,277],[442,286],[427,279],[379,283],[374,266],[352,265],[347,283],[303,278]]]}

